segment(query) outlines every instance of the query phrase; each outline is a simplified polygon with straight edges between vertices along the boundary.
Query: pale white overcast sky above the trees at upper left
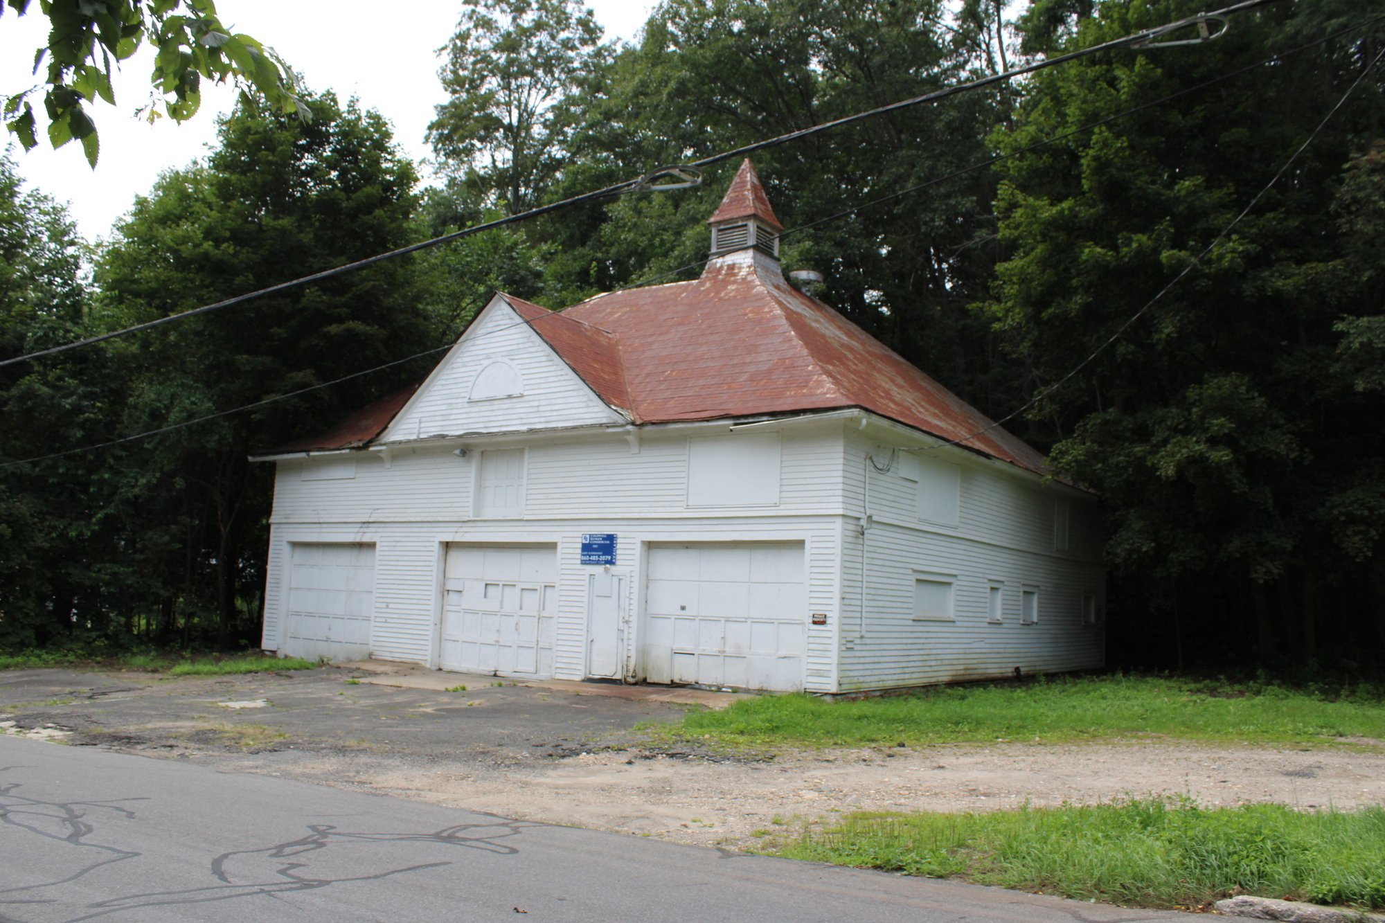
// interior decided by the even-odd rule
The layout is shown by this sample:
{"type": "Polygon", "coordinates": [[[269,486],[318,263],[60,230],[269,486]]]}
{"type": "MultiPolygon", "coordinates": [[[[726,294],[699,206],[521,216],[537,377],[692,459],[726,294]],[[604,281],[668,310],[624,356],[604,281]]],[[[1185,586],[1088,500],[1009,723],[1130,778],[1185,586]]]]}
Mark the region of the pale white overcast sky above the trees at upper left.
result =
{"type": "MultiPolygon", "coordinates": [[[[652,3],[644,0],[587,0],[608,39],[633,42],[652,3]]],[[[39,4],[15,17],[0,14],[0,97],[33,86],[35,49],[44,44],[47,19],[39,4]]],[[[345,100],[360,98],[395,126],[395,140],[414,161],[429,155],[424,133],[434,105],[443,101],[438,80],[438,49],[452,36],[460,0],[410,0],[388,7],[366,0],[217,0],[222,22],[278,51],[313,90],[337,90],[345,100]],[[395,10],[396,15],[382,14],[395,10]]],[[[204,82],[202,109],[181,125],[158,119],[147,125],[133,112],[148,101],[152,55],[141,49],[123,62],[115,79],[116,105],[96,103],[87,111],[101,136],[101,157],[93,170],[82,146],[54,151],[43,136],[43,91],[30,98],[39,116],[39,147],[24,151],[6,132],[0,148],[10,155],[26,188],[39,188],[66,202],[87,240],[109,236],[111,225],[136,195],[147,194],[166,169],[186,166],[216,140],[216,115],[235,103],[231,87],[204,82]]],[[[161,107],[162,108],[162,107],[161,107]]],[[[425,173],[425,172],[424,172],[425,173]]],[[[425,173],[427,175],[427,173],[425,173]]]]}

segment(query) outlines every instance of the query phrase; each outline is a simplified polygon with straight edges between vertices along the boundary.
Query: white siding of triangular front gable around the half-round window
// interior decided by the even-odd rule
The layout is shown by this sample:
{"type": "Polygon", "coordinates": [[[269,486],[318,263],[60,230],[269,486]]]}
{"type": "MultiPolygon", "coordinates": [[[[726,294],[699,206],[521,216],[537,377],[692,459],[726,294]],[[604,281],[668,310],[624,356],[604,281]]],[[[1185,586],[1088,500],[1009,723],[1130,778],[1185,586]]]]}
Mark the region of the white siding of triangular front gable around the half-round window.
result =
{"type": "Polygon", "coordinates": [[[619,423],[625,423],[625,417],[611,410],[497,297],[391,423],[381,441],[619,423]],[[524,394],[472,401],[476,376],[496,360],[506,360],[518,373],[524,394]]]}

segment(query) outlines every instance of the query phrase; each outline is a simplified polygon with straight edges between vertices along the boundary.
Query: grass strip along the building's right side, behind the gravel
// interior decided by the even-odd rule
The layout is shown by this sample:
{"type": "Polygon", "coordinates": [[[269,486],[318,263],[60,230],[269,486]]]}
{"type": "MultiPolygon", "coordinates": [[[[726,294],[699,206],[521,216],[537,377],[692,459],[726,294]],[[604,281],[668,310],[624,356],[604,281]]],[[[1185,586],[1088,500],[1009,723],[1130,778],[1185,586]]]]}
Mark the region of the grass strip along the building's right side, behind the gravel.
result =
{"type": "Polygon", "coordinates": [[[802,694],[762,696],[722,711],[690,712],[668,732],[731,746],[1150,737],[1312,746],[1335,737],[1385,739],[1385,696],[1367,687],[1330,701],[1321,694],[1270,685],[1227,687],[1158,676],[1058,676],[835,703],[802,694]]]}

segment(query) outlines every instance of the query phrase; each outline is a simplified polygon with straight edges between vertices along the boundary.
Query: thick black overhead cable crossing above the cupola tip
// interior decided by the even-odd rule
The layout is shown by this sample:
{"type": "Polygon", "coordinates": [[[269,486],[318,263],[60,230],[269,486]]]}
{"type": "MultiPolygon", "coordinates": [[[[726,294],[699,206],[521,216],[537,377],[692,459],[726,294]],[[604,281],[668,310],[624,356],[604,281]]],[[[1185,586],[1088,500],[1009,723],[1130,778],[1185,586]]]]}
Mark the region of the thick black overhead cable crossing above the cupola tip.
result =
{"type": "Polygon", "coordinates": [[[976,90],[976,89],[981,89],[981,87],[985,87],[985,86],[990,86],[992,83],[1000,83],[1000,82],[1004,82],[1004,80],[1010,80],[1010,79],[1014,79],[1017,76],[1024,76],[1026,73],[1033,73],[1033,72],[1042,71],[1044,68],[1055,67],[1058,64],[1065,64],[1068,61],[1075,61],[1078,58],[1083,58],[1083,57],[1087,57],[1087,55],[1091,55],[1091,54],[1098,54],[1101,51],[1112,51],[1112,50],[1116,50],[1116,49],[1126,49],[1126,47],[1133,47],[1133,46],[1138,46],[1138,44],[1148,44],[1148,43],[1151,43],[1152,39],[1156,39],[1156,37],[1159,37],[1162,35],[1168,35],[1168,33],[1172,33],[1172,32],[1177,32],[1180,29],[1186,29],[1186,28],[1188,28],[1191,25],[1198,25],[1198,24],[1206,22],[1206,19],[1209,19],[1209,18],[1212,18],[1212,19],[1226,18],[1226,17],[1233,15],[1235,12],[1244,12],[1244,11],[1248,11],[1248,10],[1253,10],[1256,7],[1263,7],[1263,6],[1267,6],[1270,3],[1278,3],[1278,1],[1280,0],[1242,0],[1241,3],[1235,3],[1235,4],[1230,6],[1230,7],[1223,7],[1222,10],[1217,10],[1216,12],[1199,14],[1199,15],[1195,15],[1195,17],[1187,17],[1187,18],[1179,19],[1176,22],[1170,22],[1170,24],[1166,24],[1166,25],[1162,25],[1162,26],[1156,26],[1154,29],[1144,29],[1141,32],[1136,32],[1136,33],[1127,35],[1127,36],[1125,36],[1122,39],[1116,39],[1114,42],[1107,42],[1104,44],[1091,46],[1090,49],[1080,49],[1078,51],[1069,51],[1068,54],[1062,54],[1062,55],[1058,55],[1055,58],[1046,58],[1043,61],[1035,61],[1033,64],[1028,64],[1028,65],[1021,67],[1021,68],[1014,68],[1014,69],[1006,71],[1003,73],[996,73],[996,75],[992,75],[992,76],[979,78],[979,79],[971,80],[968,83],[960,83],[957,86],[945,87],[942,90],[935,90],[932,93],[925,93],[922,96],[915,96],[913,98],[902,100],[899,103],[891,103],[889,105],[882,105],[879,108],[868,109],[868,111],[864,111],[864,112],[856,112],[853,115],[848,115],[845,118],[834,119],[831,122],[823,122],[820,125],[814,125],[814,126],[810,126],[810,128],[806,128],[806,129],[801,129],[798,132],[789,132],[787,134],[780,134],[780,136],[776,136],[776,137],[771,137],[771,139],[766,139],[766,140],[762,140],[762,141],[755,141],[752,144],[747,144],[747,146],[742,146],[742,147],[738,147],[738,148],[734,148],[734,150],[730,150],[730,151],[723,151],[720,154],[713,154],[711,157],[702,158],[699,161],[694,161],[692,164],[687,164],[687,165],[683,165],[680,168],[659,168],[659,169],[652,170],[650,173],[644,173],[644,175],[636,177],[633,180],[626,180],[623,183],[615,183],[612,186],[607,186],[607,187],[596,190],[593,193],[583,193],[580,195],[573,195],[573,197],[565,198],[565,200],[558,201],[558,202],[551,202],[548,205],[540,205],[537,208],[530,208],[530,209],[528,209],[525,212],[518,212],[515,215],[507,215],[506,218],[499,218],[496,220],[483,222],[481,225],[474,225],[471,227],[464,227],[461,230],[456,230],[456,231],[452,231],[449,234],[442,234],[440,237],[434,237],[431,240],[425,240],[425,241],[421,241],[421,243],[417,243],[417,244],[410,244],[409,247],[400,247],[399,249],[392,249],[392,251],[389,251],[386,254],[378,254],[375,256],[368,256],[366,259],[360,259],[360,261],[356,261],[353,263],[346,263],[343,266],[335,266],[332,269],[324,269],[323,272],[313,273],[312,276],[303,276],[301,279],[292,279],[292,280],[288,280],[288,281],[284,281],[284,283],[278,283],[276,285],[270,285],[267,288],[259,288],[256,291],[247,292],[244,295],[235,295],[234,298],[227,298],[224,301],[219,301],[219,302],[212,304],[212,305],[204,305],[202,308],[194,308],[191,310],[184,310],[184,312],[177,313],[177,315],[169,315],[168,317],[159,317],[157,320],[150,320],[147,323],[136,324],[133,327],[126,327],[123,330],[114,330],[111,333],[100,334],[97,337],[87,337],[86,340],[78,340],[78,341],[73,341],[73,342],[69,342],[69,344],[62,344],[60,346],[51,346],[48,349],[40,349],[37,352],[25,353],[22,356],[15,356],[12,359],[3,359],[3,360],[0,360],[0,367],[10,366],[10,364],[14,364],[14,363],[18,363],[18,362],[26,362],[26,360],[30,360],[30,359],[39,359],[42,356],[51,356],[51,355],[55,355],[55,353],[60,353],[60,352],[65,352],[68,349],[76,349],[79,346],[90,346],[93,344],[105,342],[107,340],[114,340],[116,337],[123,337],[126,334],[140,333],[143,330],[151,330],[154,327],[159,327],[159,326],[163,326],[163,324],[168,324],[168,323],[173,323],[175,320],[183,320],[186,317],[195,317],[197,315],[205,315],[205,313],[212,312],[212,310],[220,310],[222,308],[230,308],[231,305],[238,305],[238,304],[251,301],[253,298],[260,298],[263,295],[271,295],[274,292],[285,291],[288,288],[296,288],[298,285],[306,285],[306,284],[314,283],[314,281],[323,281],[323,280],[327,280],[327,279],[332,279],[334,276],[342,276],[342,274],[346,274],[346,273],[357,272],[360,269],[366,269],[367,266],[374,266],[375,263],[384,262],[386,259],[396,259],[399,256],[406,256],[409,254],[414,254],[414,252],[418,252],[421,249],[427,249],[429,247],[436,247],[439,244],[446,244],[446,243],[450,243],[450,241],[454,241],[454,240],[460,240],[463,237],[468,237],[471,234],[479,234],[481,231],[485,231],[485,230],[493,230],[496,227],[504,227],[507,225],[515,225],[518,222],[529,220],[532,218],[539,218],[540,215],[547,215],[547,213],[555,212],[558,209],[571,208],[573,205],[580,205],[580,204],[584,204],[584,202],[591,202],[591,201],[596,201],[598,198],[607,198],[609,195],[619,195],[622,193],[637,191],[637,190],[641,190],[641,188],[650,188],[650,179],[651,177],[655,177],[655,176],[659,176],[659,175],[663,175],[663,173],[669,173],[669,172],[673,172],[676,169],[697,169],[697,168],[701,168],[701,166],[709,166],[712,164],[720,164],[722,161],[731,159],[734,157],[742,157],[742,155],[747,155],[747,154],[752,154],[755,151],[765,150],[767,147],[776,147],[778,144],[787,144],[789,141],[796,141],[799,139],[809,137],[809,136],[817,134],[820,132],[827,132],[830,129],[841,128],[842,125],[850,125],[852,122],[859,122],[861,119],[874,118],[877,115],[885,115],[888,112],[896,112],[899,109],[910,108],[910,107],[914,107],[914,105],[921,105],[924,103],[935,103],[938,100],[942,100],[942,98],[946,98],[946,97],[950,97],[950,96],[956,96],[958,93],[964,93],[964,91],[968,91],[968,90],[976,90]]]}

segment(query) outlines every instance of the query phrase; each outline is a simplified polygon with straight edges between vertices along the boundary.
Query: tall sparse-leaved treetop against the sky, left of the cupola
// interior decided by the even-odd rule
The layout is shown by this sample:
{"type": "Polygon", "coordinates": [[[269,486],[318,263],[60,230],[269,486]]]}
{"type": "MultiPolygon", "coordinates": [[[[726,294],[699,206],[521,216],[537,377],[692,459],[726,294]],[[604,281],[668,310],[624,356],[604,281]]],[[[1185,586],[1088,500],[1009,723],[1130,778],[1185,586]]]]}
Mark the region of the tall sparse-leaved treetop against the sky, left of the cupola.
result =
{"type": "Polygon", "coordinates": [[[445,50],[434,151],[479,202],[530,208],[564,166],[565,103],[611,53],[601,26],[576,0],[470,0],[445,50]]]}

